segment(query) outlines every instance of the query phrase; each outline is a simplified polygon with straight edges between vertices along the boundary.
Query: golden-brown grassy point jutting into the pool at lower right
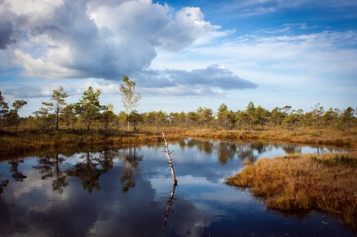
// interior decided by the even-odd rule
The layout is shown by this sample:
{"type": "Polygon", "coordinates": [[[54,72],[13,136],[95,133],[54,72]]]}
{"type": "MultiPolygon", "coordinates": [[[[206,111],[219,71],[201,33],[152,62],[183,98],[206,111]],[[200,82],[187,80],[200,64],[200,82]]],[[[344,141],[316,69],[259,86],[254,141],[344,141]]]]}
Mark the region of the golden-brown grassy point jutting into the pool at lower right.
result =
{"type": "Polygon", "coordinates": [[[357,152],[260,159],[226,183],[249,187],[270,209],[320,210],[356,230],[357,152]]]}

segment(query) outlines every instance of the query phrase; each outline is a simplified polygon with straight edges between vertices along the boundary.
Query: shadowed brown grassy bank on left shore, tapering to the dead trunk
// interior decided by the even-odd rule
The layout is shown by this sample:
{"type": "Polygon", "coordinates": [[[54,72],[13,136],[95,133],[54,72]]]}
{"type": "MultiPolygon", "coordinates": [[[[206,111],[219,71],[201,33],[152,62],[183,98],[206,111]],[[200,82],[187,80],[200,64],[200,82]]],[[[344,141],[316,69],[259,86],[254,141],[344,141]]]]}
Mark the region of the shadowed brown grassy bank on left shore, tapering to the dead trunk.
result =
{"type": "MultiPolygon", "coordinates": [[[[182,135],[168,134],[170,139],[183,138],[182,135]]],[[[36,131],[0,134],[0,155],[19,155],[32,151],[56,148],[84,148],[99,146],[121,146],[125,144],[163,141],[159,132],[85,131],[61,130],[48,134],[36,131]]]]}

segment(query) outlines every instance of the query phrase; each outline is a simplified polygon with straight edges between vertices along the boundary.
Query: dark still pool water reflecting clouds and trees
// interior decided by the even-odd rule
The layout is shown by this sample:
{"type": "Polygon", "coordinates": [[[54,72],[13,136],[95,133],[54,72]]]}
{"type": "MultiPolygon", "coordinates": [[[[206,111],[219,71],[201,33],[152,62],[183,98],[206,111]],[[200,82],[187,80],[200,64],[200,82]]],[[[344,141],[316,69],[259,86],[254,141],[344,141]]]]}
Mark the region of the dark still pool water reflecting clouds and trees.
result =
{"type": "Polygon", "coordinates": [[[336,218],[267,210],[248,189],[223,184],[247,159],[339,149],[189,138],[170,149],[175,190],[161,143],[2,158],[0,236],[353,235],[336,218]]]}

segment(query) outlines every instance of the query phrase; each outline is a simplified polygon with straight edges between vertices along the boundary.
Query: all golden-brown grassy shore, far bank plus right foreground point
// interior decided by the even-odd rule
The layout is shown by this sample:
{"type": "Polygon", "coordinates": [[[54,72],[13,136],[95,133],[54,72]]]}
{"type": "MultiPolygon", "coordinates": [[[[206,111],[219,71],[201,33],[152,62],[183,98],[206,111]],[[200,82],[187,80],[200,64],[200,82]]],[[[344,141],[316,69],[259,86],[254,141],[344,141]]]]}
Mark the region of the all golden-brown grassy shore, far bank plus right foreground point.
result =
{"type": "Polygon", "coordinates": [[[347,146],[351,151],[261,158],[252,164],[247,164],[234,176],[228,177],[225,183],[249,188],[255,196],[262,198],[269,209],[281,212],[318,210],[340,217],[346,225],[355,230],[357,225],[354,218],[357,216],[357,131],[355,130],[347,132],[322,130],[317,133],[311,129],[240,131],[156,127],[143,129],[137,133],[60,130],[58,133],[51,131],[48,134],[40,131],[20,131],[14,134],[3,131],[0,132],[0,156],[17,157],[60,149],[106,150],[125,145],[163,142],[161,131],[170,140],[200,137],[233,142],[262,140],[347,146]],[[346,176],[346,173],[349,175],[346,176]]]}

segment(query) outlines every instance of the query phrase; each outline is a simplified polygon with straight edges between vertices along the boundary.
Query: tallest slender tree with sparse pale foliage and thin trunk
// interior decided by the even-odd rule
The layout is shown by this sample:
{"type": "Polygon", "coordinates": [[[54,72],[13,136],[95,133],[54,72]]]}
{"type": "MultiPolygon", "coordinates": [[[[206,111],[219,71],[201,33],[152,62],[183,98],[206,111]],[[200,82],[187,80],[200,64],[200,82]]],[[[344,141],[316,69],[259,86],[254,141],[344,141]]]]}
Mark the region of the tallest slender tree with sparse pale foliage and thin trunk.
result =
{"type": "Polygon", "coordinates": [[[120,85],[120,96],[123,102],[124,110],[127,115],[127,130],[130,129],[130,113],[138,105],[141,99],[140,93],[135,91],[135,81],[131,81],[129,77],[123,76],[124,85],[120,85]]]}

